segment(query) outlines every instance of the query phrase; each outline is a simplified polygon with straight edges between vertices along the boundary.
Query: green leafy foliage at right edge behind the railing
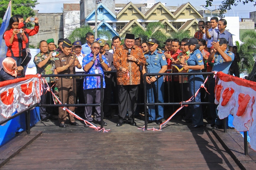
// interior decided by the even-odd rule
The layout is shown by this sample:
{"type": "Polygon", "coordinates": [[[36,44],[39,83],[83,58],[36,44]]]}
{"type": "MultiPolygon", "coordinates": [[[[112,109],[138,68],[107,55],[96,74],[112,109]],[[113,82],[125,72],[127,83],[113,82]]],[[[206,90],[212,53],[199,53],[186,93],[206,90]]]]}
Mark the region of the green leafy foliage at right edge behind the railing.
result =
{"type": "MultiPolygon", "coordinates": [[[[255,31],[246,31],[242,35],[244,43],[238,46],[238,53],[241,58],[239,63],[239,70],[247,70],[248,74],[252,71],[256,57],[256,32],[255,31]]],[[[239,43],[238,43],[239,45],[239,43]]]]}

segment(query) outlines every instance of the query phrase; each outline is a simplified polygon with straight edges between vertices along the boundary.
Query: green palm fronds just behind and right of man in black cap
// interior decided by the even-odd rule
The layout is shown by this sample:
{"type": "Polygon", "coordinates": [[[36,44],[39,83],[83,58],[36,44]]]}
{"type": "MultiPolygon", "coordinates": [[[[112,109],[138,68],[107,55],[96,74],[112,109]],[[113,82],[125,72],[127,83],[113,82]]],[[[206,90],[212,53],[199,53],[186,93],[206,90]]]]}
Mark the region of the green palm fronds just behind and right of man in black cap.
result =
{"type": "Polygon", "coordinates": [[[146,25],[145,30],[140,26],[134,26],[131,29],[131,33],[135,35],[135,37],[140,37],[142,42],[148,41],[150,38],[156,38],[159,42],[159,47],[164,46],[164,42],[167,37],[162,31],[156,31],[157,29],[164,28],[164,25],[160,22],[150,22],[146,25]]]}

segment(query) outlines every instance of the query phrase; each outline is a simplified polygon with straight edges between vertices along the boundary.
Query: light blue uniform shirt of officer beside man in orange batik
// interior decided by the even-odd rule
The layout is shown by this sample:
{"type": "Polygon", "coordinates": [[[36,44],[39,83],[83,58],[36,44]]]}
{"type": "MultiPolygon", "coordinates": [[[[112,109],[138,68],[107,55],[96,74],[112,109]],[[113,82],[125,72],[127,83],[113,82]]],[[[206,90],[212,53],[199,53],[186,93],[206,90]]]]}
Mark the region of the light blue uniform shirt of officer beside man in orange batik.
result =
{"type": "Polygon", "coordinates": [[[164,53],[154,51],[153,54],[146,53],[146,72],[147,73],[157,73],[161,70],[162,66],[167,65],[164,53]]]}

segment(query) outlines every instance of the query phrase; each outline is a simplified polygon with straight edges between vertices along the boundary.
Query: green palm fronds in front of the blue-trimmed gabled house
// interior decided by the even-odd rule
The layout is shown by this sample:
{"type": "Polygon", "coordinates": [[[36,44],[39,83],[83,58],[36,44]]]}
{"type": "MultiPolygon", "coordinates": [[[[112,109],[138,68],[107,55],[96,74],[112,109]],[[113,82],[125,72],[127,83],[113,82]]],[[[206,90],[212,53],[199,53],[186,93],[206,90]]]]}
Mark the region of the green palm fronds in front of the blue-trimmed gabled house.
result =
{"type": "MultiPolygon", "coordinates": [[[[82,44],[86,43],[86,34],[88,32],[93,33],[92,28],[89,25],[82,26],[80,28],[74,29],[72,33],[68,36],[71,42],[81,41],[82,44]]],[[[111,39],[111,33],[106,30],[98,30],[98,38],[104,38],[105,40],[111,39]]]]}

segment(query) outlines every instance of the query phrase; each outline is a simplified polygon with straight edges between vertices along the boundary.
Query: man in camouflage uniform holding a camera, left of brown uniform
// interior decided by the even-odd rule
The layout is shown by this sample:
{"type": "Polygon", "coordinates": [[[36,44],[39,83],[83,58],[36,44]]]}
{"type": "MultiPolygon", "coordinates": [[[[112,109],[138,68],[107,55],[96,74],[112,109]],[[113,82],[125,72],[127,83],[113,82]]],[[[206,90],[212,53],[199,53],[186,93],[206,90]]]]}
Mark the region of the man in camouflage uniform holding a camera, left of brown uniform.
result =
{"type": "MultiPolygon", "coordinates": [[[[46,41],[42,40],[39,43],[40,53],[34,57],[34,63],[36,64],[36,69],[38,74],[54,74],[55,61],[53,51],[48,53],[48,44],[46,41]]],[[[55,55],[58,56],[58,55],[55,55]]],[[[51,86],[55,80],[54,77],[46,77],[46,82],[51,86]]],[[[50,92],[47,91],[47,84],[44,84],[43,93],[41,96],[40,104],[46,104],[46,101],[52,100],[50,98],[50,92]]],[[[54,87],[53,87],[54,89],[54,87]]],[[[48,121],[48,119],[54,119],[52,116],[52,107],[40,107],[40,117],[42,121],[48,121]]]]}

